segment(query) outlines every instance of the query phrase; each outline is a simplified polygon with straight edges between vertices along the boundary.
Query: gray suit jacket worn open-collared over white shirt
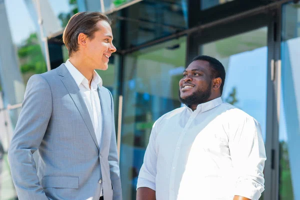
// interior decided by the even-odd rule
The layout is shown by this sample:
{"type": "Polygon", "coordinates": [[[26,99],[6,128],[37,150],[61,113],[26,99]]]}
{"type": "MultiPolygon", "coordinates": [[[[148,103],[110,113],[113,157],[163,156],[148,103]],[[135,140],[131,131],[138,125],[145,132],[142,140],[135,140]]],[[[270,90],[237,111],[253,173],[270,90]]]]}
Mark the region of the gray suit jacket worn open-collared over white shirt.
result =
{"type": "Polygon", "coordinates": [[[113,100],[98,87],[102,136],[93,125],[75,80],[64,64],[27,83],[22,109],[8,150],[18,198],[98,199],[121,197],[113,100]],[[32,153],[38,150],[38,169],[32,153]]]}

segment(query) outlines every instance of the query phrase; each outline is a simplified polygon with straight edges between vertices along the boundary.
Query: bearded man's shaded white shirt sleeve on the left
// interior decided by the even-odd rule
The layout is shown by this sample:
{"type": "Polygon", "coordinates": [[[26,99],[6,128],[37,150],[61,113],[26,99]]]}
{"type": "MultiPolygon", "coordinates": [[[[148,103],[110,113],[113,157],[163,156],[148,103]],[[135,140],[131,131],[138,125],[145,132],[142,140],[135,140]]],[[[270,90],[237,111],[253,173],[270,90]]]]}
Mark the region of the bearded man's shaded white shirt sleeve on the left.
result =
{"type": "Polygon", "coordinates": [[[155,177],[156,177],[156,162],[157,162],[157,154],[155,148],[155,140],[156,140],[156,122],[153,124],[149,143],[147,145],[143,164],[139,170],[137,186],[139,187],[148,187],[150,189],[155,190],[155,177]]]}

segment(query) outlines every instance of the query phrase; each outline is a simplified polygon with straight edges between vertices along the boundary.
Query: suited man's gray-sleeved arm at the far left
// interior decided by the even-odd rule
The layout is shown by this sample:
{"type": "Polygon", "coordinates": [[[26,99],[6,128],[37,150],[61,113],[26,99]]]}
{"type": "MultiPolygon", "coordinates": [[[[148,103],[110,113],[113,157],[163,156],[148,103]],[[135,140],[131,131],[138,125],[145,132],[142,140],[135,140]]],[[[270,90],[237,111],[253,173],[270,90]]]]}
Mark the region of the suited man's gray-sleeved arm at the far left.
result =
{"type": "Polygon", "coordinates": [[[28,80],[8,149],[11,177],[20,200],[48,199],[39,184],[32,154],[43,139],[51,112],[50,86],[41,75],[35,74],[28,80]]]}

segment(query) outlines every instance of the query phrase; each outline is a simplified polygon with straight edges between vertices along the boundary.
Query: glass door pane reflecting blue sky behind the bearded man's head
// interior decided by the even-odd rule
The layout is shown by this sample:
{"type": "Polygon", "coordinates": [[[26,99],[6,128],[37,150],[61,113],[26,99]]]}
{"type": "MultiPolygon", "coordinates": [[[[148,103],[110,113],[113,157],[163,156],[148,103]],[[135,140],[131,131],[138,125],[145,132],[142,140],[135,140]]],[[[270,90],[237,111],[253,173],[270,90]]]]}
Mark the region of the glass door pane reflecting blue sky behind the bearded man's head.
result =
{"type": "Polygon", "coordinates": [[[206,43],[199,47],[199,52],[217,58],[224,65],[223,101],[253,116],[261,125],[265,141],[267,27],[206,43]]]}

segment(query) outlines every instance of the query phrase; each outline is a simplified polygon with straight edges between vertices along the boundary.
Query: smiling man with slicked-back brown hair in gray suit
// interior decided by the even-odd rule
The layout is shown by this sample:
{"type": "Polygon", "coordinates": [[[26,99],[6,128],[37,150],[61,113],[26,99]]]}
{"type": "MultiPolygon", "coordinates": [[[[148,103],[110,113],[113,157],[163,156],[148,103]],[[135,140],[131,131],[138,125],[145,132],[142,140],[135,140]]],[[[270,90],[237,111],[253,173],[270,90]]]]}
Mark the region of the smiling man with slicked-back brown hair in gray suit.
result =
{"type": "Polygon", "coordinates": [[[63,41],[69,59],[27,83],[8,151],[18,198],[122,199],[113,100],[94,70],[106,70],[116,50],[110,20],[77,13],[63,41]]]}

